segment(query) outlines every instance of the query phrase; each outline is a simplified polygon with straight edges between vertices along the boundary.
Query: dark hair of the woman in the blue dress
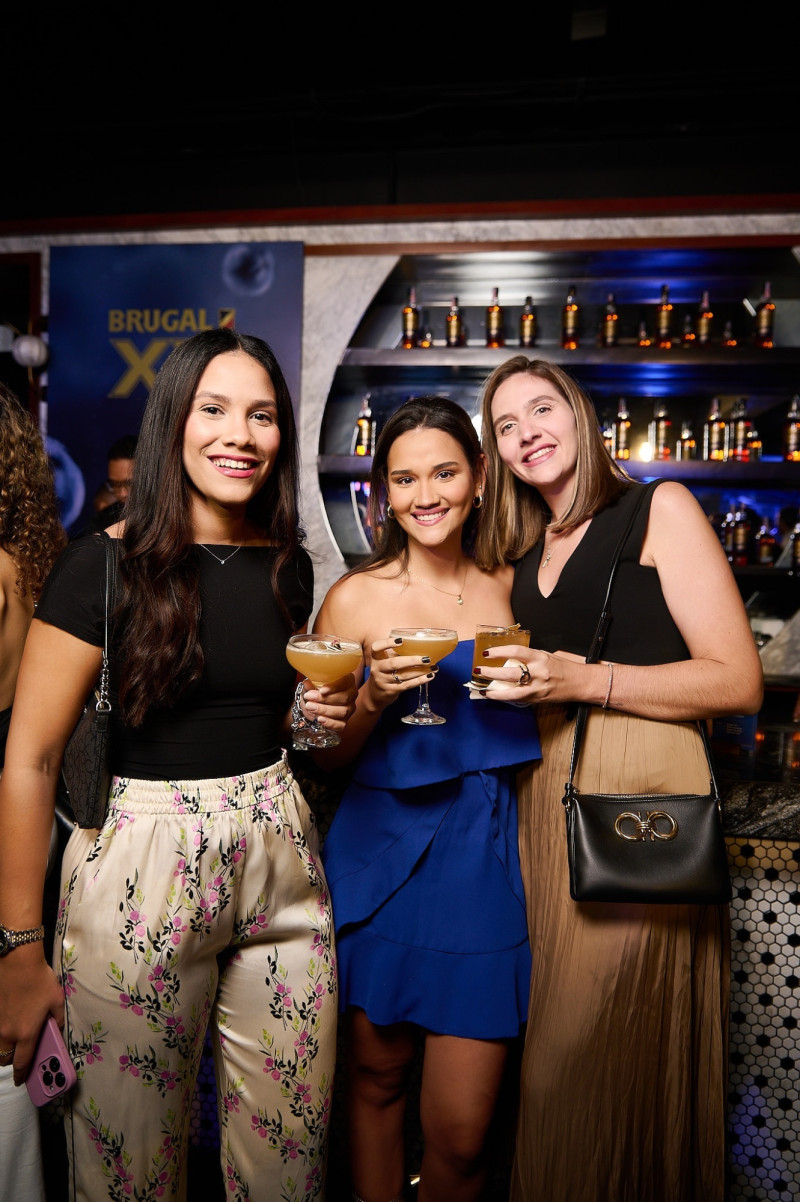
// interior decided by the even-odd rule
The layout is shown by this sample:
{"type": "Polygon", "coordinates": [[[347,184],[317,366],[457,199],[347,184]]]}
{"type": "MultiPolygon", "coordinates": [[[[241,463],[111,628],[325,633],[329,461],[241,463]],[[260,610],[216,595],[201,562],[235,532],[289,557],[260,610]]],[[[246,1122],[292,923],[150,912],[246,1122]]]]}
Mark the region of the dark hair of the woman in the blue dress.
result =
{"type": "MultiPolygon", "coordinates": [[[[483,452],[472,421],[461,405],[449,397],[412,397],[394,411],[381,430],[372,457],[368,522],[372,531],[374,549],[366,559],[348,572],[354,576],[386,564],[398,565],[402,572],[408,561],[408,535],[399,522],[386,512],[389,451],[401,434],[411,430],[442,430],[453,438],[466,457],[476,480],[480,476],[483,452]]],[[[471,552],[474,532],[482,520],[482,508],[473,508],[461,531],[462,546],[471,552]]]]}

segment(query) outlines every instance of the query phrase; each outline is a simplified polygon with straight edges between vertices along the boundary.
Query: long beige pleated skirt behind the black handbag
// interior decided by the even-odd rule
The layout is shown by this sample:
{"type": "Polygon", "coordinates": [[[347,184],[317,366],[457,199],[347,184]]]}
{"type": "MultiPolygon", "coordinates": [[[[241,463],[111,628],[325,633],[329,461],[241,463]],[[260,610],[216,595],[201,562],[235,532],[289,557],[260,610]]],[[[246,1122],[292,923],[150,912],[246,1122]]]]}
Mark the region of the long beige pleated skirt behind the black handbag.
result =
{"type": "MultiPolygon", "coordinates": [[[[542,760],[519,775],[533,975],[512,1202],[723,1202],[728,908],[571,900],[574,724],[538,720],[542,760]]],[[[705,793],[709,768],[693,724],[595,709],[577,784],[705,793]]]]}

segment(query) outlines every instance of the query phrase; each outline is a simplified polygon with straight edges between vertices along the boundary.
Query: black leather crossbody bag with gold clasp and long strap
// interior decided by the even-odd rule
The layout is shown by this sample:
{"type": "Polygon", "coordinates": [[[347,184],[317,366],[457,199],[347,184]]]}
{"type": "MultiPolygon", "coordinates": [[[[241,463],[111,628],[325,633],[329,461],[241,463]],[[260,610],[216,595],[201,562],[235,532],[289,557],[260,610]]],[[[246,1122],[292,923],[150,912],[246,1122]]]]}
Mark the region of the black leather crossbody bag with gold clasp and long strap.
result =
{"type": "MultiPolygon", "coordinates": [[[[599,659],[611,620],[609,599],[620,555],[652,487],[641,489],[616,545],[587,664],[599,659]]],[[[573,900],[698,905],[730,902],[720,791],[704,724],[698,722],[698,728],[709,761],[708,793],[584,793],[575,787],[574,774],[587,716],[589,706],[579,706],[569,780],[562,798],[573,900]]]]}

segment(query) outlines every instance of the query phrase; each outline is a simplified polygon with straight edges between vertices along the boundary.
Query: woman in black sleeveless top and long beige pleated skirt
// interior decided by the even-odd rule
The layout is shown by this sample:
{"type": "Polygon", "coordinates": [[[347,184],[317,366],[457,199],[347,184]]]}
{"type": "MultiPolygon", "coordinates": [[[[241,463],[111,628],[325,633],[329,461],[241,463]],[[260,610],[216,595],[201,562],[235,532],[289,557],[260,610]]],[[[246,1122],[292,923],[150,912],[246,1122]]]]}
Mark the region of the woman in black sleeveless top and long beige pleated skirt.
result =
{"type": "Polygon", "coordinates": [[[643,487],[603,445],[566,371],[517,355],[482,398],[479,553],[515,566],[524,670],[485,668],[532,702],[542,760],[518,778],[533,956],[513,1202],[723,1202],[728,906],[579,904],[561,799],[573,703],[591,704],[577,785],[708,793],[698,721],[752,714],[763,676],[733,572],[692,493],[645,501],[617,570],[603,660],[586,664],[611,554],[643,487]]]}

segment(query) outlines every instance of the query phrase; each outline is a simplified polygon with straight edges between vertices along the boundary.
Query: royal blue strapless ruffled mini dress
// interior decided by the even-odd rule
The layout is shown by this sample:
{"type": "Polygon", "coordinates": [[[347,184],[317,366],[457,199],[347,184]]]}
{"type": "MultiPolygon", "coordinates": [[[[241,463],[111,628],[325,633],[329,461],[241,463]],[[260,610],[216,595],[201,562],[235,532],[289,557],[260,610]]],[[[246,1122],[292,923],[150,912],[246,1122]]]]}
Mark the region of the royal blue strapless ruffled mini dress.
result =
{"type": "Polygon", "coordinates": [[[533,709],[470,701],[472,641],[442,660],[443,726],[405,726],[417,690],[384,710],[354,763],[323,849],[340,1005],[512,1039],[531,956],[517,844],[515,772],[541,757],[533,709]]]}

